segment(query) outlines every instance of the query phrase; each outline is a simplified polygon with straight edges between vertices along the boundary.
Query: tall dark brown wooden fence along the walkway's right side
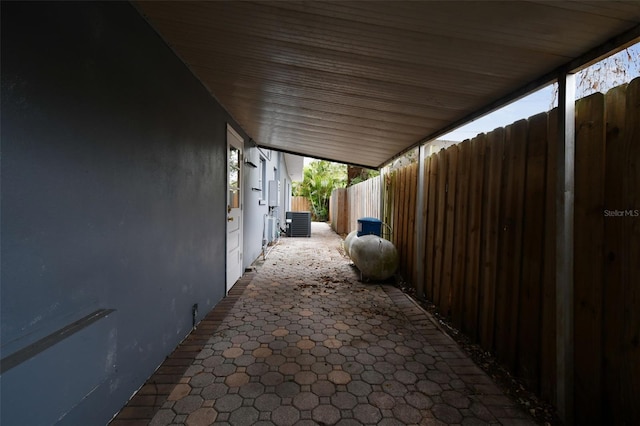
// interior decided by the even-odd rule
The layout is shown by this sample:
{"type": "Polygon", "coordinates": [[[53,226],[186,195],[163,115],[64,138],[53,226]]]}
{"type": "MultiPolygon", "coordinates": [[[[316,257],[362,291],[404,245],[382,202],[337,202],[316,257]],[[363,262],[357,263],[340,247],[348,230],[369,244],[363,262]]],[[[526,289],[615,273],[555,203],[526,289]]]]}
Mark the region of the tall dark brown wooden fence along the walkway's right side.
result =
{"type": "MultiPolygon", "coordinates": [[[[385,176],[382,218],[418,297],[552,402],[556,126],[554,110],[451,146],[421,184],[417,164],[385,176]]],[[[640,79],[576,103],[575,155],[575,422],[638,424],[640,79]]]]}

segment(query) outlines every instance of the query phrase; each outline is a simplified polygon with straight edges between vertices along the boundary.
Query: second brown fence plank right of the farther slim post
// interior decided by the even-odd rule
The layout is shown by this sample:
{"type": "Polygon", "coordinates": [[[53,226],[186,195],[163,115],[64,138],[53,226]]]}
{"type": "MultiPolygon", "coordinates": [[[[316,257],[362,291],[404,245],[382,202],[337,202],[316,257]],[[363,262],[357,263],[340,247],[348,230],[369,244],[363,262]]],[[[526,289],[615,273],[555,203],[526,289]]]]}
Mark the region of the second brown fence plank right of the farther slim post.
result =
{"type": "Polygon", "coordinates": [[[441,293],[440,285],[442,284],[442,267],[444,259],[444,234],[446,222],[446,186],[448,172],[448,156],[445,151],[438,153],[438,205],[436,207],[436,239],[434,241],[434,258],[433,258],[433,303],[440,306],[441,293]]]}

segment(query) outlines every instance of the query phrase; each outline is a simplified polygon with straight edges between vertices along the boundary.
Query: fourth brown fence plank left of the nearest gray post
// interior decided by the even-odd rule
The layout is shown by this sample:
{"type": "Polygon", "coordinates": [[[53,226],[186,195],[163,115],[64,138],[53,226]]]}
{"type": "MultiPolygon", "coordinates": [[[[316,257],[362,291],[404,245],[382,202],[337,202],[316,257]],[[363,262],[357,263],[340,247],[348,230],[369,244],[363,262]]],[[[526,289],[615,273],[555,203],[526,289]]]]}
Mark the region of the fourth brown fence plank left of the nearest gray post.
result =
{"type": "Polygon", "coordinates": [[[498,128],[487,135],[488,164],[485,170],[484,241],[481,255],[480,342],[491,351],[494,350],[496,259],[500,227],[498,210],[503,148],[504,129],[498,128]]]}

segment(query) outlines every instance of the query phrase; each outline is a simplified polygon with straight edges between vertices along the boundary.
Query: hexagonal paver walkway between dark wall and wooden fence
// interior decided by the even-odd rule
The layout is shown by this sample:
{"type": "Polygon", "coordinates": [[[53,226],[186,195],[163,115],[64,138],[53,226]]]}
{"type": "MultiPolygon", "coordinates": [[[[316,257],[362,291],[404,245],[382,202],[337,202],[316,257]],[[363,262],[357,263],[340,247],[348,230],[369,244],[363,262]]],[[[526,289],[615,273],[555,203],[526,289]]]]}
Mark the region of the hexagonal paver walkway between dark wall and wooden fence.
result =
{"type": "Polygon", "coordinates": [[[324,223],[281,239],[161,405],[112,425],[535,424],[408,296],[359,282],[341,242],[324,223]]]}

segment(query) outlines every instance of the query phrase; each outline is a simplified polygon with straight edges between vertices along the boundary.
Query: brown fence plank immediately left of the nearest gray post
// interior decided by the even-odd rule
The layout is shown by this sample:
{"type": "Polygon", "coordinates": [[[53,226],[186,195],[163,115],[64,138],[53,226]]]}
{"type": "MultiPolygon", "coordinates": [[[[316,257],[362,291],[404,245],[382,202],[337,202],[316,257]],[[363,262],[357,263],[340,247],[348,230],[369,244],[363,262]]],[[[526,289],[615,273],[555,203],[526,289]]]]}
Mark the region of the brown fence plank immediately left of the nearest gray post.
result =
{"type": "Polygon", "coordinates": [[[542,319],[540,321],[540,395],[556,400],[556,158],[558,109],[549,112],[547,190],[544,230],[542,319]]]}

